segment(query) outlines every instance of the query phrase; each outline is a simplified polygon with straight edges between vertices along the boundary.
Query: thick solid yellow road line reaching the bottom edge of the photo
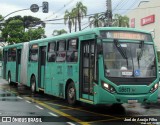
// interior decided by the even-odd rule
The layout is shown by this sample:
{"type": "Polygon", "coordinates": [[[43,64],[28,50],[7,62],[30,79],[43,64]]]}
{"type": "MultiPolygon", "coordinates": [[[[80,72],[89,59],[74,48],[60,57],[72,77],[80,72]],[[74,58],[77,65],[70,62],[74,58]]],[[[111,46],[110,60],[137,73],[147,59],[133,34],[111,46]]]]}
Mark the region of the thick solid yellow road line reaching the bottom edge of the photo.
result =
{"type": "Polygon", "coordinates": [[[34,102],[38,103],[39,105],[41,105],[41,106],[43,106],[43,107],[45,107],[45,108],[57,113],[57,114],[60,114],[61,116],[64,116],[64,117],[66,117],[68,119],[71,119],[71,120],[73,120],[73,121],[75,121],[75,122],[77,122],[77,123],[79,123],[81,125],[84,125],[84,124],[85,125],[90,125],[88,122],[84,122],[84,121],[82,121],[80,119],[77,119],[77,118],[73,117],[72,115],[69,115],[69,114],[64,113],[62,111],[59,111],[58,109],[53,108],[53,107],[51,107],[51,106],[49,106],[49,105],[47,105],[47,104],[45,104],[45,103],[43,103],[41,101],[35,100],[35,99],[31,98],[31,97],[25,97],[25,98],[29,99],[29,100],[34,100],[34,102]]]}

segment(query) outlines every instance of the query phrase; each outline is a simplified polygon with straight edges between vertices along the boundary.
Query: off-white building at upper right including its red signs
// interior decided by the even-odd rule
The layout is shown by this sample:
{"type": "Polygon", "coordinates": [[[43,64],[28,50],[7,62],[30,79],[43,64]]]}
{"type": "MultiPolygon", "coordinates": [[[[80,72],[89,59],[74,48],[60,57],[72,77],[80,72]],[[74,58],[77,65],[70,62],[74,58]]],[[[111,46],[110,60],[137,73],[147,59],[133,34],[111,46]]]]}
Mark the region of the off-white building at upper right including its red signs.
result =
{"type": "Polygon", "coordinates": [[[157,51],[160,52],[160,0],[141,1],[139,6],[126,14],[130,27],[150,31],[157,51]]]}

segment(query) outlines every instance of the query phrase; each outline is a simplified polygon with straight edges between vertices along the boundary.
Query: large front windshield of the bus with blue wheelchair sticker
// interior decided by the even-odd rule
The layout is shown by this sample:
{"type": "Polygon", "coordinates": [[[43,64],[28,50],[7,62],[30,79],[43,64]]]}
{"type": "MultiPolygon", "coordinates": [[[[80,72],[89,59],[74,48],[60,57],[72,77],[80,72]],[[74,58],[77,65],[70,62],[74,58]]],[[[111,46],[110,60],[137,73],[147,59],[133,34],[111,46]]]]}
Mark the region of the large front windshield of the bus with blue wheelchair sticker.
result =
{"type": "Polygon", "coordinates": [[[156,77],[156,60],[153,44],[103,42],[106,77],[156,77]]]}

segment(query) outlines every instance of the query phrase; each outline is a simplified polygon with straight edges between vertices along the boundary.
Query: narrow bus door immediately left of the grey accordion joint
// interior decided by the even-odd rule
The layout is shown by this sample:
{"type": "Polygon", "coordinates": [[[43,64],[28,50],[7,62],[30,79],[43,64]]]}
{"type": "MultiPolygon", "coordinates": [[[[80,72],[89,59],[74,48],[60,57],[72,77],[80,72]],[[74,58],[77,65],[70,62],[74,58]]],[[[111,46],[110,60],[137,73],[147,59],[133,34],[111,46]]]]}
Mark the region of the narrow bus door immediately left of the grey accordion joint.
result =
{"type": "Polygon", "coordinates": [[[16,55],[16,82],[20,81],[20,68],[21,68],[21,49],[17,49],[16,55]]]}

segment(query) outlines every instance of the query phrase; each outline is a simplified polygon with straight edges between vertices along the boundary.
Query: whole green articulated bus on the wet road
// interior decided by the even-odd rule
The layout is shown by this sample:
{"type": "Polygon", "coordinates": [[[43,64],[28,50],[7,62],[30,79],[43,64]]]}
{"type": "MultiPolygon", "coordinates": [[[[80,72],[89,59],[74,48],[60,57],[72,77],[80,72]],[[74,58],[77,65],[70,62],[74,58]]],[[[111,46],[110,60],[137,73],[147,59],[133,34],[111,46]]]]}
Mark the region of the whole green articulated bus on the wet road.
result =
{"type": "Polygon", "coordinates": [[[4,47],[9,83],[90,104],[158,98],[158,60],[149,32],[100,27],[4,47]]]}

